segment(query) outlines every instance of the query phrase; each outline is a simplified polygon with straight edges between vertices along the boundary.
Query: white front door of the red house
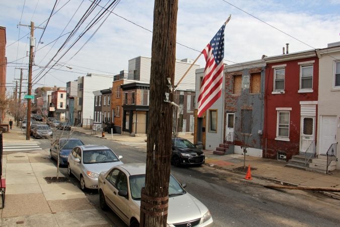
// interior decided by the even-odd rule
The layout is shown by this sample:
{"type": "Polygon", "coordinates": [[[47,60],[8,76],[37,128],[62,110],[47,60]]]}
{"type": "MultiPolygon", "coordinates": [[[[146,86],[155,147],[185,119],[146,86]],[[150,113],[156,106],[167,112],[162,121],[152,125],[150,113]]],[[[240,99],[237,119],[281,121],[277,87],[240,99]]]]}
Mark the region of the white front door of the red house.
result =
{"type": "Polygon", "coordinates": [[[309,148],[309,153],[314,153],[314,117],[301,117],[300,128],[300,153],[305,153],[309,148]]]}

